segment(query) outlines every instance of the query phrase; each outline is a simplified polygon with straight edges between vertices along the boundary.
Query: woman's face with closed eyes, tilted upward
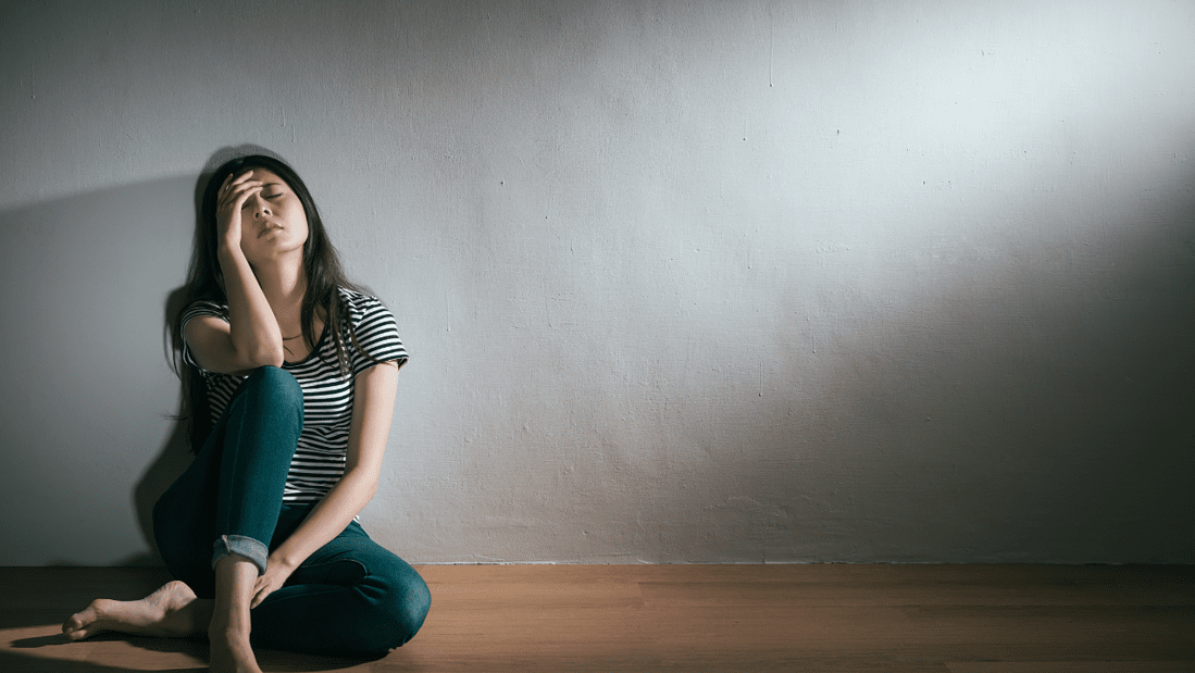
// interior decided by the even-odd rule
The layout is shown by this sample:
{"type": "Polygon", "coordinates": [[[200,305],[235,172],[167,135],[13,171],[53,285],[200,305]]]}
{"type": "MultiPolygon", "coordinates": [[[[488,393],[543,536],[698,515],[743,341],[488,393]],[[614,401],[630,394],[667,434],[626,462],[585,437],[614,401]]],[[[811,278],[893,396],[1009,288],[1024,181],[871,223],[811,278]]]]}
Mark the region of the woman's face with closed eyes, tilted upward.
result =
{"type": "Polygon", "coordinates": [[[240,210],[240,249],[250,264],[269,263],[302,255],[307,241],[307,213],[299,196],[282,178],[265,169],[253,169],[250,179],[262,189],[245,200],[240,210]]]}

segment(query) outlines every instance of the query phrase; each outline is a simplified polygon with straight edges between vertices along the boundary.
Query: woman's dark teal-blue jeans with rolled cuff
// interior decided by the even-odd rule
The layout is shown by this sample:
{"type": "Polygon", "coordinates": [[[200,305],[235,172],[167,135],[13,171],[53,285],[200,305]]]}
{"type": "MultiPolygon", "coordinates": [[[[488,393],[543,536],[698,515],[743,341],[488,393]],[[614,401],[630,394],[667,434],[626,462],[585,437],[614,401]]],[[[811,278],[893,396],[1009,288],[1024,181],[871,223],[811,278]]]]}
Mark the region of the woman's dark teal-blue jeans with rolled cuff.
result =
{"type": "MultiPolygon", "coordinates": [[[[282,502],[302,432],[302,390],[277,367],[238,388],[186,472],[154,506],[166,567],[200,598],[215,595],[216,562],[239,553],[264,570],[311,504],[282,502]]],[[[312,553],[252,611],[255,646],[380,655],[411,640],[431,606],[419,574],[356,521],[312,553]]]]}

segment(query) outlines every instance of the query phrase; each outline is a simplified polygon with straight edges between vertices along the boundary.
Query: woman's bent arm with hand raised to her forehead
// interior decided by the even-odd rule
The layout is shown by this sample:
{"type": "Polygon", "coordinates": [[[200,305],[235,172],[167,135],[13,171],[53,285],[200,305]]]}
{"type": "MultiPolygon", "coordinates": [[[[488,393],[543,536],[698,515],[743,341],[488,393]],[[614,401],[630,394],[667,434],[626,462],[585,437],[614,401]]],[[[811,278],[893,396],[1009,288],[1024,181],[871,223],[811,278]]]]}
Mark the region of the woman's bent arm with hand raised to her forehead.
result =
{"type": "Polygon", "coordinates": [[[250,175],[228,176],[216,206],[216,258],[228,298],[228,322],[198,317],[186,324],[184,335],[195,361],[209,372],[247,374],[266,365],[281,367],[286,355],[278,320],[240,249],[241,208],[262,190],[250,175]]]}

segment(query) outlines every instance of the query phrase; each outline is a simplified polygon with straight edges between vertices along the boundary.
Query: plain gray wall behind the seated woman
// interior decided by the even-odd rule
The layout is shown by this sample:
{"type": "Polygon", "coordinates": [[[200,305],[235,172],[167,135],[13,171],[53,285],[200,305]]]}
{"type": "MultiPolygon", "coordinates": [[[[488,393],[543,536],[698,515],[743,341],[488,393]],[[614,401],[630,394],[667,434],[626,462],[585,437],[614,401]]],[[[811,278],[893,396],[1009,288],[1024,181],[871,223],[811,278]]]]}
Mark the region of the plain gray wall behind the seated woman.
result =
{"type": "Polygon", "coordinates": [[[196,178],[396,312],[441,562],[1190,562],[1195,5],[5,2],[0,564],[153,563],[196,178]]]}

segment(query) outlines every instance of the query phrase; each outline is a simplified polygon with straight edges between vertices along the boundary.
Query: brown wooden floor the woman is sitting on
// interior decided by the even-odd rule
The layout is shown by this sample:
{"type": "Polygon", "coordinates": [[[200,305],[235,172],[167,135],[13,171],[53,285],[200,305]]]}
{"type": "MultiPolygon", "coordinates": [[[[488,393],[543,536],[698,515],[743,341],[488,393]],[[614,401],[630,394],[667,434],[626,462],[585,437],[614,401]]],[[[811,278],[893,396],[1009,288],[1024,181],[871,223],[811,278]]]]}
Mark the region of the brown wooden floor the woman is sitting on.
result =
{"type": "MultiPolygon", "coordinates": [[[[1195,567],[431,565],[385,659],[261,651],[270,671],[1195,672],[1195,567]]],[[[0,568],[0,672],[206,671],[201,641],[59,625],[166,577],[0,568]]]]}

